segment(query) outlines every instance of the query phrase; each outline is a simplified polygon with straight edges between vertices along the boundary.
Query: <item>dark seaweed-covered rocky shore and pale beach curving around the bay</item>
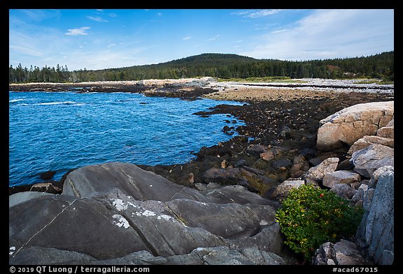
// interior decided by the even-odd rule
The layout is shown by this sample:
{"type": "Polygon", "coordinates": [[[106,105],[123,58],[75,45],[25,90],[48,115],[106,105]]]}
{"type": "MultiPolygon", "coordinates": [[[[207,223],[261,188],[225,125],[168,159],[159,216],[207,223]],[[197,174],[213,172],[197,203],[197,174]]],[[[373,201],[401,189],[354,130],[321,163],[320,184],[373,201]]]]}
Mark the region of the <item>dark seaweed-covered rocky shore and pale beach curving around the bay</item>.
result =
{"type": "MultiPolygon", "coordinates": [[[[313,79],[312,79],[313,80],[313,79]]],[[[160,174],[170,181],[182,185],[193,186],[193,183],[208,183],[211,178],[204,178],[203,174],[211,167],[241,167],[246,166],[264,175],[271,185],[281,183],[286,178],[298,177],[304,169],[292,167],[290,162],[295,156],[302,154],[306,160],[318,158],[323,160],[331,153],[316,151],[316,134],[319,121],[345,107],[362,102],[393,100],[393,93],[379,90],[379,93],[349,91],[351,81],[314,79],[318,89],[283,88],[282,83],[273,86],[256,86],[255,84],[234,82],[216,82],[215,79],[204,77],[201,79],[165,79],[122,82],[83,82],[83,83],[29,83],[10,84],[10,91],[74,91],[85,92],[134,92],[146,96],[165,96],[197,100],[210,98],[213,100],[237,100],[244,105],[218,105],[209,112],[198,112],[196,115],[208,116],[211,114],[231,114],[246,125],[234,128],[231,121],[222,130],[232,135],[236,130],[239,136],[228,142],[222,142],[209,148],[203,147],[195,153],[196,159],[185,165],[146,166],[143,169],[160,174]],[[345,86],[346,89],[323,91],[323,86],[345,86]],[[391,99],[392,98],[392,99],[391,99]],[[264,151],[253,151],[251,146],[273,146],[276,149],[275,157],[260,158],[264,151]],[[250,152],[252,151],[252,152],[250,152]],[[323,155],[322,155],[323,154],[323,155]],[[274,162],[276,161],[276,162],[274,162]]],[[[298,83],[298,82],[297,82],[298,83]]],[[[300,86],[300,84],[297,84],[300,86]]],[[[312,86],[312,83],[307,82],[312,86]]],[[[356,85],[356,84],[355,84],[356,85]]],[[[290,84],[287,84],[290,86],[290,84]]],[[[375,89],[376,84],[372,84],[375,89]]],[[[379,85],[378,85],[379,86],[379,85]]],[[[347,147],[332,151],[332,155],[345,159],[347,147]]],[[[267,151],[266,151],[267,152],[267,151]]],[[[316,160],[314,159],[313,162],[316,160]]],[[[309,163],[310,166],[313,164],[309,163]]],[[[306,165],[304,166],[306,169],[306,165]]],[[[47,172],[47,171],[43,171],[47,172]]],[[[234,176],[233,176],[234,177],[234,176]]],[[[262,180],[255,178],[254,186],[250,190],[267,197],[267,186],[261,187],[262,180]]],[[[217,179],[217,178],[215,178],[217,179]]],[[[221,178],[220,178],[221,180],[221,178]]],[[[246,178],[222,178],[222,183],[244,183],[246,178]]],[[[30,190],[62,192],[61,181],[45,180],[41,184],[20,185],[10,188],[9,195],[30,190]]],[[[264,183],[265,185],[266,183],[264,183]]],[[[272,191],[272,188],[270,188],[272,191]]]]}

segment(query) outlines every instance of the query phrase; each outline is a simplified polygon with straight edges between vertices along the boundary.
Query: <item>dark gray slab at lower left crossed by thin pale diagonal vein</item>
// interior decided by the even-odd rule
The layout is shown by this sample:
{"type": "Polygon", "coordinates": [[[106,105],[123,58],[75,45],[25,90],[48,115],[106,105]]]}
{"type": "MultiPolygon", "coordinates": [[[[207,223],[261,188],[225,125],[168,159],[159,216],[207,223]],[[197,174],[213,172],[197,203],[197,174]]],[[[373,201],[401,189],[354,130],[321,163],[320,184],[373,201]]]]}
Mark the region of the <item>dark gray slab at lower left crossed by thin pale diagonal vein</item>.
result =
{"type": "Polygon", "coordinates": [[[43,196],[9,209],[12,257],[31,246],[57,248],[110,259],[149,250],[127,220],[94,199],[43,196]]]}

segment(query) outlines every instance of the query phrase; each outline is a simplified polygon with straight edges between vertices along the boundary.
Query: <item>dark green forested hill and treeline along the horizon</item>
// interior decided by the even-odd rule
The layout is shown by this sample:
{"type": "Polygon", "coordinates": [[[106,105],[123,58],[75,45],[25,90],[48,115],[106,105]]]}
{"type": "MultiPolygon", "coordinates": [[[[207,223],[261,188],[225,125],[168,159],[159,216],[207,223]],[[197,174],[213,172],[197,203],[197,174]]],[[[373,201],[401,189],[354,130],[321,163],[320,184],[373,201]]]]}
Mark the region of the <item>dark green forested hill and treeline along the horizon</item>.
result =
{"type": "Polygon", "coordinates": [[[178,79],[186,77],[290,77],[290,78],[358,78],[394,80],[394,52],[345,59],[281,61],[253,59],[236,54],[199,54],[153,65],[104,70],[74,70],[17,66],[9,69],[10,83],[15,82],[83,82],[140,79],[178,79]]]}

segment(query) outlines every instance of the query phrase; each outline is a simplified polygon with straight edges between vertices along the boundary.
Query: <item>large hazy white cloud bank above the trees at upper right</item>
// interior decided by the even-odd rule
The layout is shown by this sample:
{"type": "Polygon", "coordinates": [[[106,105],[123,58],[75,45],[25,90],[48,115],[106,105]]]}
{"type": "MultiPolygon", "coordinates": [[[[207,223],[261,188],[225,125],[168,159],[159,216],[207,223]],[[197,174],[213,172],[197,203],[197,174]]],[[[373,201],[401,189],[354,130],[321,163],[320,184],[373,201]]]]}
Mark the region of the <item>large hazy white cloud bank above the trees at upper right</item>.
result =
{"type": "Polygon", "coordinates": [[[260,59],[332,59],[393,50],[393,10],[315,10],[295,27],[260,36],[253,50],[260,59]]]}

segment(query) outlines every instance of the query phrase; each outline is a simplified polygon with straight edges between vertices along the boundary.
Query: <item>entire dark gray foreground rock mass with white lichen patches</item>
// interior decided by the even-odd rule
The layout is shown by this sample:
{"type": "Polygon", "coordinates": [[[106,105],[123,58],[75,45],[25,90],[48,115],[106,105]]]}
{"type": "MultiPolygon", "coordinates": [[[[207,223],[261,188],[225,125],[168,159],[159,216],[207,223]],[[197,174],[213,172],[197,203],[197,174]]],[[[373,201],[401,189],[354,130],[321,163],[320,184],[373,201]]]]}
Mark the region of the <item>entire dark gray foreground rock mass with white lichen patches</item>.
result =
{"type": "Polygon", "coordinates": [[[285,262],[276,203],[240,185],[200,192],[121,162],[76,169],[64,184],[63,195],[10,205],[10,264],[285,262]]]}

